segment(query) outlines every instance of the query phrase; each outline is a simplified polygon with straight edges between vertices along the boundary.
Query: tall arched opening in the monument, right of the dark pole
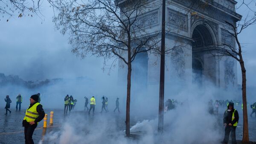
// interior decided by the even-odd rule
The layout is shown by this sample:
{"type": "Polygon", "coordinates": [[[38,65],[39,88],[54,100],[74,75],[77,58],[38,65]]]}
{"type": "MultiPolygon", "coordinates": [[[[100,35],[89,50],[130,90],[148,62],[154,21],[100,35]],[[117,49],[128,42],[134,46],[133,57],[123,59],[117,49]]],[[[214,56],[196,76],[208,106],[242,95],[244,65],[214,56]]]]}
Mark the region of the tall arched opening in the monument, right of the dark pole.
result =
{"type": "Polygon", "coordinates": [[[192,82],[203,85],[216,84],[215,57],[211,51],[215,45],[215,35],[206,23],[198,23],[192,32],[192,82]]]}

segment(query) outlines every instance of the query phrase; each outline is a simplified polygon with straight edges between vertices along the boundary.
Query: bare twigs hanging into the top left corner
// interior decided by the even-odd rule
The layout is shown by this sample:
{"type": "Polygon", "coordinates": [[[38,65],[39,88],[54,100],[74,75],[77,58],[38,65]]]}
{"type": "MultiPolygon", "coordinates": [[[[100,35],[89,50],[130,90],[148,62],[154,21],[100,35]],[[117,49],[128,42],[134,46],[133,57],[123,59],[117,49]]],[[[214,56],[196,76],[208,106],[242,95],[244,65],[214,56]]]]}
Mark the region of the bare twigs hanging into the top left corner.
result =
{"type": "MultiPolygon", "coordinates": [[[[0,16],[8,17],[17,15],[18,17],[33,16],[33,14],[40,14],[39,7],[41,6],[41,0],[0,0],[0,16]]],[[[0,19],[1,20],[1,19],[0,19]]]]}

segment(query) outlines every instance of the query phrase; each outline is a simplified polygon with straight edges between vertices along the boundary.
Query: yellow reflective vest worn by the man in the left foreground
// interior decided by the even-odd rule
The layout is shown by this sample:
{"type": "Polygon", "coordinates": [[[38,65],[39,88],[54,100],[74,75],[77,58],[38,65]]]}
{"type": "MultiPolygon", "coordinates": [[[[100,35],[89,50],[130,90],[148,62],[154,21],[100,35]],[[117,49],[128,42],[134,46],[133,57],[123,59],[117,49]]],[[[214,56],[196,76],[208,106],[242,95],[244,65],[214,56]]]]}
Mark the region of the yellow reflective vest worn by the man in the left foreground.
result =
{"type": "Polygon", "coordinates": [[[37,102],[35,103],[32,107],[28,108],[26,110],[26,114],[23,120],[26,120],[27,122],[31,122],[31,121],[35,121],[36,118],[38,118],[39,114],[36,111],[36,107],[39,105],[40,103],[37,102]]]}

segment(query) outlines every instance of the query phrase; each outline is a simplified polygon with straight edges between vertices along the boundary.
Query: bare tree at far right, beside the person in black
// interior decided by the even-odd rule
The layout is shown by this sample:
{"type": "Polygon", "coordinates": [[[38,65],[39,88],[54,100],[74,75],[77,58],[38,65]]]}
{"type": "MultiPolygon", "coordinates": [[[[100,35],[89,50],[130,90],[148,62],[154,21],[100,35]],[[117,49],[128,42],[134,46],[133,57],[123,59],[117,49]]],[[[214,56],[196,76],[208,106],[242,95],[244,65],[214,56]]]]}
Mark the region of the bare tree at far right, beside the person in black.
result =
{"type": "MultiPolygon", "coordinates": [[[[244,4],[244,3],[243,3],[244,4]]],[[[248,6],[248,5],[246,5],[248,6]]],[[[240,7],[240,6],[239,6],[240,7]]],[[[227,34],[229,34],[227,37],[233,37],[235,39],[236,45],[238,48],[236,48],[233,43],[229,42],[222,42],[221,45],[218,46],[218,48],[221,48],[222,52],[220,56],[231,56],[234,59],[236,59],[241,67],[241,73],[242,73],[242,100],[243,100],[243,143],[249,143],[249,131],[248,131],[248,116],[247,116],[247,100],[246,100],[246,69],[244,66],[244,59],[243,59],[243,51],[241,42],[239,40],[239,34],[241,32],[248,28],[250,25],[256,24],[256,13],[254,12],[253,16],[247,15],[247,17],[244,18],[244,20],[240,21],[239,23],[234,24],[226,21],[225,25],[225,31],[227,34]]]]}

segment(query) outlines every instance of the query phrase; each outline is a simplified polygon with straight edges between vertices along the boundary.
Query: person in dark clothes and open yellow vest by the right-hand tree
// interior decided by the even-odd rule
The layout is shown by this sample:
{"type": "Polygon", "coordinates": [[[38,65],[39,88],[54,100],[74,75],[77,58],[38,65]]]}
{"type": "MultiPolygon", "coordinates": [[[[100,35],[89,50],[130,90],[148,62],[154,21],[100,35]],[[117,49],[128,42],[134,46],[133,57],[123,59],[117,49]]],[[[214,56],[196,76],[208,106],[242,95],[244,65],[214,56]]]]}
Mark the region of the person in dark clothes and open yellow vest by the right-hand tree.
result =
{"type": "Polygon", "coordinates": [[[225,126],[225,137],[222,144],[227,144],[231,132],[232,144],[236,144],[236,126],[239,121],[239,114],[234,109],[234,103],[229,102],[227,109],[224,112],[223,123],[225,126]]]}

